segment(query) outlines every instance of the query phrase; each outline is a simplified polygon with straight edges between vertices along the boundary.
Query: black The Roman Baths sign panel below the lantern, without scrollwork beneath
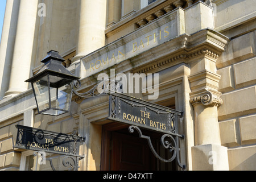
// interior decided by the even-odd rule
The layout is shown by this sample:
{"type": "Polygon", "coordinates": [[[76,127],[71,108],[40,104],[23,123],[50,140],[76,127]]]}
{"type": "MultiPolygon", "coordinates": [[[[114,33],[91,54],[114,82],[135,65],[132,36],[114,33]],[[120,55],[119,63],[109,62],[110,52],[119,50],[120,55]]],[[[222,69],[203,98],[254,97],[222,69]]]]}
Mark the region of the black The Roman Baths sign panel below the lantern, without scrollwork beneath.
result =
{"type": "Polygon", "coordinates": [[[25,150],[78,156],[79,144],[81,140],[84,140],[84,138],[76,135],[55,133],[27,126],[16,125],[16,128],[18,129],[18,134],[14,147],[25,150]]]}

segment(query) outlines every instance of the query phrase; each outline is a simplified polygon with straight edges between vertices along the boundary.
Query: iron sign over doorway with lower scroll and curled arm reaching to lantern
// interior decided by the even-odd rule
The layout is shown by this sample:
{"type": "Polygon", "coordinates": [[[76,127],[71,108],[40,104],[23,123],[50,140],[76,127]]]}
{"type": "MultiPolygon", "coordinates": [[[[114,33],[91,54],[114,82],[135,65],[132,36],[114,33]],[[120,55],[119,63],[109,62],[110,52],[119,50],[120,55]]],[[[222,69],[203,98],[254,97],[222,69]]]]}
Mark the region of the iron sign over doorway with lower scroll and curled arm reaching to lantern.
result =
{"type": "MultiPolygon", "coordinates": [[[[80,88],[80,86],[81,86],[80,80],[73,82],[73,87],[78,89],[80,88]]],[[[90,98],[90,97],[97,97],[97,96],[104,96],[104,95],[110,96],[108,119],[112,119],[117,122],[127,123],[130,125],[131,121],[136,117],[136,121],[135,122],[133,121],[133,125],[129,127],[129,132],[133,133],[135,129],[138,131],[140,138],[147,139],[148,145],[150,146],[152,153],[155,155],[156,158],[158,158],[162,162],[169,163],[176,159],[178,166],[181,167],[182,169],[185,169],[185,165],[180,163],[180,155],[179,155],[180,154],[179,139],[184,139],[184,135],[178,134],[177,116],[178,115],[181,116],[180,111],[176,111],[176,110],[170,111],[170,109],[163,109],[163,107],[161,106],[152,105],[142,100],[136,101],[135,98],[131,99],[123,94],[119,94],[122,92],[120,84],[119,82],[116,82],[113,80],[101,81],[100,83],[96,84],[92,89],[90,89],[88,92],[85,92],[85,93],[79,93],[75,89],[73,89],[73,92],[81,98],[90,98]],[[98,92],[99,90],[101,90],[101,92],[98,92]],[[121,109],[121,104],[123,106],[123,109],[121,109]],[[131,111],[131,108],[129,109],[129,107],[133,109],[136,107],[137,109],[135,110],[137,111],[143,110],[146,112],[151,110],[152,111],[151,114],[156,113],[155,114],[156,121],[159,119],[160,117],[159,115],[161,115],[161,119],[163,123],[160,121],[158,121],[157,123],[160,126],[162,126],[162,130],[168,130],[166,131],[167,133],[163,134],[161,138],[161,144],[164,148],[169,150],[170,153],[172,154],[170,159],[163,159],[161,156],[159,156],[158,153],[155,151],[154,147],[152,146],[150,137],[142,134],[141,129],[139,129],[138,127],[140,126],[139,121],[141,122],[142,120],[137,120],[137,117],[139,118],[138,113],[137,115],[135,113],[133,114],[123,113],[124,110],[131,111]],[[134,114],[135,116],[133,117],[132,115],[134,114]],[[126,118],[126,120],[124,118],[126,118]]],[[[152,115],[151,115],[151,118],[152,118],[152,115]]],[[[144,123],[143,127],[147,129],[153,129],[153,127],[148,126],[146,122],[144,123]]],[[[154,130],[161,131],[161,129],[154,129],[154,130]]]]}

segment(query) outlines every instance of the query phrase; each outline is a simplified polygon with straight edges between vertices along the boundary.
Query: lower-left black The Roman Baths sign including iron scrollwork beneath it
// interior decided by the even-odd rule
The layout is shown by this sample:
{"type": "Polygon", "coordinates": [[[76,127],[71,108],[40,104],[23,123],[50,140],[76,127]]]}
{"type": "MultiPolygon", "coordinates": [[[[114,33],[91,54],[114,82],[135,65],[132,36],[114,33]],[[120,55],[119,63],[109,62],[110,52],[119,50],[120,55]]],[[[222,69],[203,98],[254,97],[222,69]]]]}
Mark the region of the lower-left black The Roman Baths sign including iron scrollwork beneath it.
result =
{"type": "Polygon", "coordinates": [[[79,146],[85,138],[79,137],[78,133],[74,132],[73,135],[69,135],[21,125],[16,125],[16,127],[18,133],[14,148],[34,150],[36,151],[34,156],[43,155],[43,160],[49,161],[53,171],[55,167],[52,159],[46,158],[46,152],[64,156],[63,166],[69,167],[69,171],[76,171],[79,168],[79,160],[84,158],[79,155],[79,146]]]}

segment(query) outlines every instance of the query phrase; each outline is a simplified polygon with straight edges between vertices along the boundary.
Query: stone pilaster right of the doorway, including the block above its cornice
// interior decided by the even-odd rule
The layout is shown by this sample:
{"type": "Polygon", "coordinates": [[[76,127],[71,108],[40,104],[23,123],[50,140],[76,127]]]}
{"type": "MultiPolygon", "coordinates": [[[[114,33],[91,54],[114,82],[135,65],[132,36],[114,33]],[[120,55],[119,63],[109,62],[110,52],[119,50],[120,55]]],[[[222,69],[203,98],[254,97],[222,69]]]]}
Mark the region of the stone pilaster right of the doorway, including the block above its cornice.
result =
{"type": "Polygon", "coordinates": [[[222,100],[218,91],[221,77],[216,67],[216,61],[229,39],[210,31],[214,27],[210,7],[202,2],[193,6],[192,1],[187,2],[189,8],[185,11],[185,31],[192,35],[187,54],[191,68],[188,80],[195,136],[195,146],[191,147],[192,170],[229,170],[228,151],[221,146],[218,125],[217,108],[222,105],[222,100]],[[207,32],[204,31],[205,27],[209,28],[207,32]]]}

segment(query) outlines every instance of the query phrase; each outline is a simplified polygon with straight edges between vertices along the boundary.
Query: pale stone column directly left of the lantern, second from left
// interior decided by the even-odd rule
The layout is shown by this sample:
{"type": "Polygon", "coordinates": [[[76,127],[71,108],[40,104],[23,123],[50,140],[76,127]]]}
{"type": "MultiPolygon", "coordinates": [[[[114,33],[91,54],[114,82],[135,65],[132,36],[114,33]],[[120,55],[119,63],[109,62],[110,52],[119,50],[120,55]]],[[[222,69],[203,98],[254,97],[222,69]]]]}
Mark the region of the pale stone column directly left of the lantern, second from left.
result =
{"type": "Polygon", "coordinates": [[[24,81],[30,77],[31,73],[37,10],[37,0],[20,0],[9,90],[5,96],[15,96],[28,89],[28,84],[24,81]]]}

